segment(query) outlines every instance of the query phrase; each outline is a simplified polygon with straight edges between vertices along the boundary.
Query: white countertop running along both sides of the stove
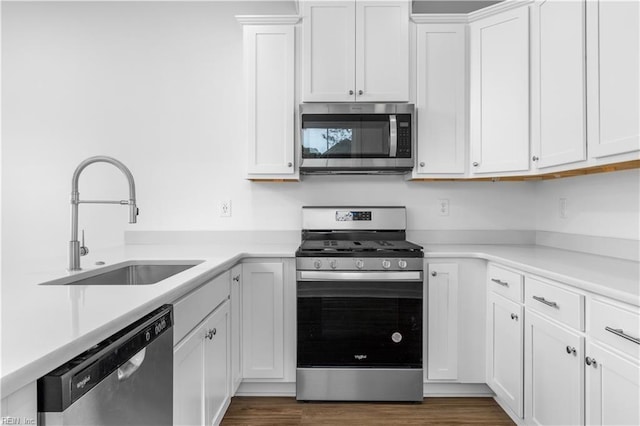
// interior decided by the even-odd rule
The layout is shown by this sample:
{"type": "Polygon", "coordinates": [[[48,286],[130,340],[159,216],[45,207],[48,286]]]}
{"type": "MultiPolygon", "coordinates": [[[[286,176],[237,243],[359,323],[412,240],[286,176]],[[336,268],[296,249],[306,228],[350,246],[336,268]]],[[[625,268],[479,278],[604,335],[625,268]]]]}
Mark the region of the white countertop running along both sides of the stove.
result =
{"type": "MultiPolygon", "coordinates": [[[[420,243],[419,241],[416,241],[420,243]]],[[[127,260],[202,260],[154,285],[39,285],[69,276],[66,259],[4,265],[1,395],[7,396],[243,258],[293,257],[298,244],[125,245],[82,258],[84,270],[127,260]]],[[[640,306],[640,264],[541,246],[425,245],[425,257],[480,258],[640,306]]]]}

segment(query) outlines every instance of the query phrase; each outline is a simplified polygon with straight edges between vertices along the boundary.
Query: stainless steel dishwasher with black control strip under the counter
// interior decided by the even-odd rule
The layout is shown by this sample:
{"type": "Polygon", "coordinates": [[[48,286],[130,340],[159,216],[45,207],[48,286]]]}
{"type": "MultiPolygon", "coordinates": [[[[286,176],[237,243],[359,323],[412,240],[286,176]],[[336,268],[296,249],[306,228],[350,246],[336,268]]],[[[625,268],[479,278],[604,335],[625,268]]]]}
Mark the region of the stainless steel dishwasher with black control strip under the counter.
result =
{"type": "Polygon", "coordinates": [[[171,305],[38,379],[40,425],[171,425],[172,420],[171,305]]]}

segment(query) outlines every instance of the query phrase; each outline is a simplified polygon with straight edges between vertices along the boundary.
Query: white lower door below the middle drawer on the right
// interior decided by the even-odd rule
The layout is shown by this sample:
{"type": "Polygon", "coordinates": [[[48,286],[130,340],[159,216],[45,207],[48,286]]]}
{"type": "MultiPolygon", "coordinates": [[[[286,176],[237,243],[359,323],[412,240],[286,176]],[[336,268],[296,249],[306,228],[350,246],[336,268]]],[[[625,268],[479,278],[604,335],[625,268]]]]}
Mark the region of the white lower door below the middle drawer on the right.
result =
{"type": "Polygon", "coordinates": [[[525,421],[582,424],[584,338],[528,309],[525,316],[525,421]]]}

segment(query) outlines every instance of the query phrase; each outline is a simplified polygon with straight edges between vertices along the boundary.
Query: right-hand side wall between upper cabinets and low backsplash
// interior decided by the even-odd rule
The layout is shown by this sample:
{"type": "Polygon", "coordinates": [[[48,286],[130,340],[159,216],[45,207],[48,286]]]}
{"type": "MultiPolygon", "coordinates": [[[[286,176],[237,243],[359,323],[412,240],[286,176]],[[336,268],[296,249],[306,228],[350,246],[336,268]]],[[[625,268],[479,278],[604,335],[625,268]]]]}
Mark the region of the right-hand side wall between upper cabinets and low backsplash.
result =
{"type": "Polygon", "coordinates": [[[537,182],[535,199],[538,231],[640,240],[640,170],[537,182]]]}

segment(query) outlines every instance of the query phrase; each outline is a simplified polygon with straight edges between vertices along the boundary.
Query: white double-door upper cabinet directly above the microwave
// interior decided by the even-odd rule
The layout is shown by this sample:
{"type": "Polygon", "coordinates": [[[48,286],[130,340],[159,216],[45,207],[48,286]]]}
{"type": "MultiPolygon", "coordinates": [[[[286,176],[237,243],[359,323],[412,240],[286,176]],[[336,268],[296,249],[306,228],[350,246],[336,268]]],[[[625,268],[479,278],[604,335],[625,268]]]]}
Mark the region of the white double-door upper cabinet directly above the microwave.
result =
{"type": "Polygon", "coordinates": [[[303,3],[303,102],[409,100],[409,2],[303,3]]]}

